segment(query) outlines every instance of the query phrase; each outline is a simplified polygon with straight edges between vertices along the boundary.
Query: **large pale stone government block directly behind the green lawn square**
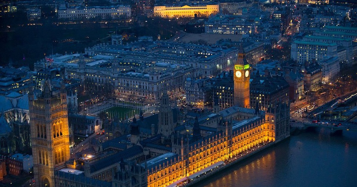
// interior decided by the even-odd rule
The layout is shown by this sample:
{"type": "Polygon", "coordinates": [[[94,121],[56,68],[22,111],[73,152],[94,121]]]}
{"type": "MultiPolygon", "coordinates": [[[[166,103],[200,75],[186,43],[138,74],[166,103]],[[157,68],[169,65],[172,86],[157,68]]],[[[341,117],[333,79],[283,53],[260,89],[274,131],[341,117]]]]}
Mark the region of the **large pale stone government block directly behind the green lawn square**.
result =
{"type": "MultiPolygon", "coordinates": [[[[65,70],[64,77],[68,79],[80,79],[84,83],[99,86],[111,85],[116,95],[127,99],[137,96],[155,100],[160,98],[162,92],[170,96],[180,95],[185,89],[186,79],[199,75],[197,68],[188,65],[163,62],[145,64],[105,55],[98,55],[99,59],[95,57],[71,55],[64,61],[56,61],[54,58],[52,67],[65,70]]],[[[40,69],[41,65],[39,62],[35,66],[40,69]]]]}

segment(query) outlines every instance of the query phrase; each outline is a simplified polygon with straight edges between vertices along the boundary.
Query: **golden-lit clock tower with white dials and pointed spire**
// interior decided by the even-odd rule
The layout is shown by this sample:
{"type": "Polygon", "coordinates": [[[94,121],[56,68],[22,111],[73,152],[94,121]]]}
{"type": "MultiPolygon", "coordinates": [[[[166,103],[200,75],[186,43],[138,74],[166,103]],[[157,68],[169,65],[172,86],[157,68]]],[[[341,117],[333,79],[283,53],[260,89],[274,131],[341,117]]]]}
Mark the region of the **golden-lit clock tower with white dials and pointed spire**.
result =
{"type": "Polygon", "coordinates": [[[237,63],[234,65],[234,104],[238,107],[250,108],[249,79],[250,65],[245,59],[245,52],[241,44],[238,51],[237,63]]]}

